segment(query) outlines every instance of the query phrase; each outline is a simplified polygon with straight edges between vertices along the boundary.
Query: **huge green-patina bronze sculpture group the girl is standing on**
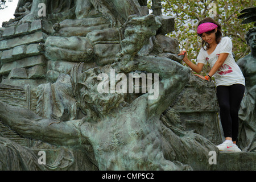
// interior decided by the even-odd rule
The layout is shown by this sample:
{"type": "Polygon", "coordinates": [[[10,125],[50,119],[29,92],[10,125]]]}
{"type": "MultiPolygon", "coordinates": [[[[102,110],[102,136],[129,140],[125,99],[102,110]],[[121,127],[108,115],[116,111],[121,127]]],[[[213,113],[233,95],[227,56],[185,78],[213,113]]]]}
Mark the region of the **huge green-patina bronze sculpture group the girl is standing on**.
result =
{"type": "MultiPolygon", "coordinates": [[[[15,19],[0,28],[1,170],[234,168],[209,163],[209,152],[224,160],[216,147],[222,138],[214,84],[180,64],[177,39],[165,36],[174,31],[174,18],[162,15],[161,1],[152,2],[153,14],[145,5],[19,1],[15,19]],[[39,3],[46,5],[46,16],[38,15],[39,3]],[[110,92],[98,92],[105,83],[98,76],[111,78],[112,70],[110,92]],[[153,87],[146,93],[112,93],[112,86],[126,85],[115,76],[129,82],[131,73],[153,75],[158,97],[150,99],[153,87]],[[46,164],[39,162],[40,151],[46,164]]],[[[255,95],[253,52],[252,47],[241,68],[248,75],[248,94],[255,95]]],[[[137,86],[142,89],[143,80],[137,86]]],[[[254,129],[253,116],[254,124],[250,117],[244,121],[254,129]]],[[[246,165],[255,169],[254,163],[246,165]]]]}

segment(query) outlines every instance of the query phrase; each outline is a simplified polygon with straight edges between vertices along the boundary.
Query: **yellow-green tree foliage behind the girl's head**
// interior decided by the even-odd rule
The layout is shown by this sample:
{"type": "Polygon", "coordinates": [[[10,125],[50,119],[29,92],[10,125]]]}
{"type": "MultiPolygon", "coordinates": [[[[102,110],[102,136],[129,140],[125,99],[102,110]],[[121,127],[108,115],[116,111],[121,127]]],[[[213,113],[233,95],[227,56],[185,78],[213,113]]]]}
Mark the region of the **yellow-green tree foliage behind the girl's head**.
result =
{"type": "MultiPolygon", "coordinates": [[[[149,1],[150,7],[151,1],[149,1]]],[[[247,7],[255,7],[254,0],[162,0],[163,15],[175,18],[175,31],[167,36],[179,40],[180,49],[188,51],[188,57],[196,63],[196,57],[201,48],[201,38],[196,29],[200,20],[214,16],[214,20],[221,24],[223,36],[229,36],[233,42],[233,53],[238,60],[250,52],[245,34],[253,23],[241,24],[237,19],[240,12],[247,7]]],[[[209,69],[209,68],[208,68],[209,69]]],[[[205,70],[205,72],[207,72],[205,70]]]]}

